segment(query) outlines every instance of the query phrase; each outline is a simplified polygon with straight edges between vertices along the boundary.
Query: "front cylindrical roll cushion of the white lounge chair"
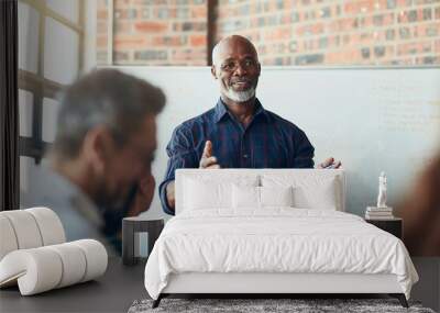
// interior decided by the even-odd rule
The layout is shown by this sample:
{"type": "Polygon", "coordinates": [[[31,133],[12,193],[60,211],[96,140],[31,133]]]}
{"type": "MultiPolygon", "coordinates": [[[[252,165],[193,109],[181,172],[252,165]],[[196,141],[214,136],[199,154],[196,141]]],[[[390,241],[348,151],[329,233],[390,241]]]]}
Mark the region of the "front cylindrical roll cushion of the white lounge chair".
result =
{"type": "Polygon", "coordinates": [[[18,282],[22,295],[92,280],[106,272],[108,255],[94,239],[9,253],[0,261],[0,288],[18,282]]]}

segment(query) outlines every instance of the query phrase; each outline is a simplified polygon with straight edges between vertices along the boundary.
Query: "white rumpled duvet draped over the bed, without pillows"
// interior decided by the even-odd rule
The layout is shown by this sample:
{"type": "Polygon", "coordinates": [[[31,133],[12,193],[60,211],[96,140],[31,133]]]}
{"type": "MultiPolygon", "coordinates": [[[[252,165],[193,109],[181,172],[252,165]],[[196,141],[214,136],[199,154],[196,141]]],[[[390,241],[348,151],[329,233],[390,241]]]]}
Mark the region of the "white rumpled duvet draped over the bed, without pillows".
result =
{"type": "Polygon", "coordinates": [[[173,217],[145,267],[148,294],[157,299],[182,272],[394,273],[408,299],[418,280],[395,236],[353,214],[292,208],[173,217]]]}

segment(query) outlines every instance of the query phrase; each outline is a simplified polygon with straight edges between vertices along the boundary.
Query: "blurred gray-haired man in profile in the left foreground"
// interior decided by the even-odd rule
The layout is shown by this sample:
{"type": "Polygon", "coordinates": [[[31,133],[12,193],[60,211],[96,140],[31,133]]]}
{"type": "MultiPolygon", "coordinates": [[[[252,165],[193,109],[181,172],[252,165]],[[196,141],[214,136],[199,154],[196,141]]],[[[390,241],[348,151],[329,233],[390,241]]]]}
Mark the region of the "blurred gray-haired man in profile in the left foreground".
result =
{"type": "MultiPolygon", "coordinates": [[[[98,238],[111,247],[109,223],[120,227],[122,216],[140,213],[139,206],[124,209],[136,197],[133,186],[140,182],[144,198],[152,199],[155,118],[164,104],[158,88],[113,69],[94,71],[68,87],[48,166],[31,175],[24,204],[53,209],[68,241],[98,238]]],[[[143,204],[146,210],[150,202],[143,204]]]]}

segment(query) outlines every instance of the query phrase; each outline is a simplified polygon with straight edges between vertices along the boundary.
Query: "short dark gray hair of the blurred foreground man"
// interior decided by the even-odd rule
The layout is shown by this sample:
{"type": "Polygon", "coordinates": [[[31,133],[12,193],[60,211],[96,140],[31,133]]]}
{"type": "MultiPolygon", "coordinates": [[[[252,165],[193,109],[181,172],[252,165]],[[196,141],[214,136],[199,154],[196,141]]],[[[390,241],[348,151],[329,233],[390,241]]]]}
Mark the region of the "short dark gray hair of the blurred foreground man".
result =
{"type": "Polygon", "coordinates": [[[165,101],[163,91],[145,80],[116,69],[95,70],[62,93],[53,153],[78,156],[86,134],[100,125],[122,146],[165,101]]]}

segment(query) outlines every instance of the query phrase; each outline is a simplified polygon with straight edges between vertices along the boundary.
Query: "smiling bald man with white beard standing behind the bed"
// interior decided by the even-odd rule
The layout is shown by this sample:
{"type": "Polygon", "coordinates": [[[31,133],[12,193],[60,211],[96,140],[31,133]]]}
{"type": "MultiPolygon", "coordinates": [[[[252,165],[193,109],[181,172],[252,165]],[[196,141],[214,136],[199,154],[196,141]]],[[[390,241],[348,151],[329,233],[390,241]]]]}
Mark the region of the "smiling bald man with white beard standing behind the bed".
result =
{"type": "MultiPolygon", "coordinates": [[[[178,168],[311,168],[315,148],[295,124],[265,110],[255,98],[261,65],[255,47],[238,35],[212,51],[212,76],[220,85],[217,105],[184,122],[173,133],[163,209],[174,214],[174,178],[178,168]]],[[[327,159],[319,167],[337,168],[327,159]]]]}

